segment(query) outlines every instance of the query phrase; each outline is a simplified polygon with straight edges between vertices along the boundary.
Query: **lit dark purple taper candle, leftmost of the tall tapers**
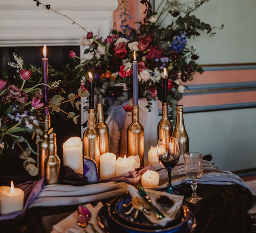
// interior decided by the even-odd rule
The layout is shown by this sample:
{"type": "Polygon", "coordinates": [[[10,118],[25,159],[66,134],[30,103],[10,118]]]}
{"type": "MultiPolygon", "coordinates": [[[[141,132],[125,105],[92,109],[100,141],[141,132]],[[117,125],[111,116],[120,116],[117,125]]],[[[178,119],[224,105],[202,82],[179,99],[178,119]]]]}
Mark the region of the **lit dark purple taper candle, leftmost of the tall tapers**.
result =
{"type": "MultiPolygon", "coordinates": [[[[43,67],[43,79],[44,84],[49,84],[48,81],[48,58],[46,57],[46,45],[44,45],[42,58],[42,67],[43,67]]],[[[44,85],[44,107],[49,106],[49,98],[48,98],[48,87],[44,85]]],[[[44,109],[44,114],[49,115],[49,108],[44,109]]]]}

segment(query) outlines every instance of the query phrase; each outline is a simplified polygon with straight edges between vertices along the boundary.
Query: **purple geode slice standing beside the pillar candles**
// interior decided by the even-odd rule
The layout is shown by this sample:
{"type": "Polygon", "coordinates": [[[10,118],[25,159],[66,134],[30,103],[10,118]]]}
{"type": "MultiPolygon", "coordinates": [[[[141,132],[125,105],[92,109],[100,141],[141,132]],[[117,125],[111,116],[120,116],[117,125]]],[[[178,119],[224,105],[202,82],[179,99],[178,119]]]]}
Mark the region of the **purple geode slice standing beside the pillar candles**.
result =
{"type": "Polygon", "coordinates": [[[96,162],[90,157],[84,157],[84,176],[89,184],[99,183],[98,167],[96,162]]]}

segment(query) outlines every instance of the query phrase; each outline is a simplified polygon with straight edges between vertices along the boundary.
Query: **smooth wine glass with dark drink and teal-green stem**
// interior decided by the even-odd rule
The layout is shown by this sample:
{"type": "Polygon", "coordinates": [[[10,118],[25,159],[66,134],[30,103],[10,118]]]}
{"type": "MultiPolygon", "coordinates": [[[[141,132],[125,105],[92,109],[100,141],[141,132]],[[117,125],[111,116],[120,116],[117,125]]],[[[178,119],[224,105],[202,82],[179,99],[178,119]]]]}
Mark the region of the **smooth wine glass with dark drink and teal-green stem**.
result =
{"type": "Polygon", "coordinates": [[[172,168],[176,166],[180,158],[180,148],[178,141],[175,137],[163,137],[158,140],[157,143],[157,158],[160,164],[168,172],[168,188],[167,193],[178,194],[178,191],[174,191],[171,183],[172,168]]]}

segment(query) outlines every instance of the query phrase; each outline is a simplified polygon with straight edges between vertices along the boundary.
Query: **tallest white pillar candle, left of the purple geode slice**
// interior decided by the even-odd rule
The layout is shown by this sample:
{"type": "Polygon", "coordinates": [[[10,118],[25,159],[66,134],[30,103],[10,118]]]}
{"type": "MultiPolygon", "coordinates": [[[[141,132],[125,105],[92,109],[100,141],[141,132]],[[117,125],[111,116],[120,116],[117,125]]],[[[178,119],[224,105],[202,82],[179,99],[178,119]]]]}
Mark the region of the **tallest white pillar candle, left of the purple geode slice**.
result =
{"type": "Polygon", "coordinates": [[[63,164],[83,174],[83,146],[80,137],[71,137],[62,145],[63,164]]]}

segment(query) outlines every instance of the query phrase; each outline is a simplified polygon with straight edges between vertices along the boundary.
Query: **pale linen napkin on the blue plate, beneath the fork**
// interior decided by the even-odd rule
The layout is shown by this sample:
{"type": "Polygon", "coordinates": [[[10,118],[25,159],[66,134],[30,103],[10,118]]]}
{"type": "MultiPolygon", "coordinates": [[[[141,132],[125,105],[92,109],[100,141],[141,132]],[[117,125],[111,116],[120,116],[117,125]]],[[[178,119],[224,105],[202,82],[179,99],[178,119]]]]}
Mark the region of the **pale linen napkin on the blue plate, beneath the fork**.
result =
{"type": "MultiPolygon", "coordinates": [[[[129,185],[127,187],[128,192],[130,193],[130,195],[133,196],[137,196],[140,197],[137,189],[131,185],[129,185]]],[[[152,203],[154,204],[155,207],[157,207],[157,209],[164,215],[164,218],[161,220],[158,220],[156,218],[155,212],[151,209],[149,203],[141,198],[144,202],[145,207],[148,209],[150,208],[150,215],[147,215],[146,213],[143,214],[145,215],[145,217],[151,222],[151,223],[156,223],[160,226],[165,226],[169,221],[173,220],[176,216],[176,214],[178,213],[181,203],[183,201],[183,197],[181,195],[175,195],[175,194],[169,194],[166,192],[161,192],[161,191],[155,191],[155,190],[150,190],[150,189],[146,189],[145,188],[145,192],[149,195],[152,203]],[[159,205],[156,203],[156,198],[159,198],[160,196],[168,196],[173,202],[173,206],[171,208],[169,208],[168,210],[165,211],[165,209],[163,208],[162,205],[159,205]]]]}

